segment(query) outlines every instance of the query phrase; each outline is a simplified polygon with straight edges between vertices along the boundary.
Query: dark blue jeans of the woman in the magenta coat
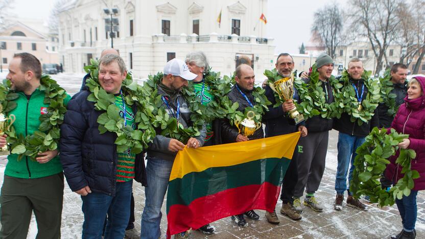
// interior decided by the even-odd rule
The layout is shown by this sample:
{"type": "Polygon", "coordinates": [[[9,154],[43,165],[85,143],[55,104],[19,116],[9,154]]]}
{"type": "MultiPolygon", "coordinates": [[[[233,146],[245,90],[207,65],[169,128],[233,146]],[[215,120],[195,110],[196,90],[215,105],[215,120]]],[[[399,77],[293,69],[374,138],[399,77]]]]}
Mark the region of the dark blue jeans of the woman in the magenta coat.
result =
{"type": "Polygon", "coordinates": [[[415,229],[416,216],[418,212],[416,206],[417,195],[418,192],[416,190],[411,190],[408,197],[403,195],[402,200],[395,199],[400,216],[402,216],[403,229],[405,231],[411,232],[415,229]]]}

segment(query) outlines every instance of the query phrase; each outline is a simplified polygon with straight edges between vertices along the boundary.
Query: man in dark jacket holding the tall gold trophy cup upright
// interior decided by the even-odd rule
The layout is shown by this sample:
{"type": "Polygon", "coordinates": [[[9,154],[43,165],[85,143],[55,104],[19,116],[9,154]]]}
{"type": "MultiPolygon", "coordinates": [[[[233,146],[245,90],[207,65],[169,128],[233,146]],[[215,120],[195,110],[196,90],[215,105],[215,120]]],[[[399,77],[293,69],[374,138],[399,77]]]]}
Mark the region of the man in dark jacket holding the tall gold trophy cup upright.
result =
{"type": "MultiPolygon", "coordinates": [[[[307,129],[304,126],[303,116],[296,111],[293,100],[294,98],[298,98],[293,84],[294,76],[292,71],[294,69],[294,60],[291,55],[281,53],[277,57],[275,66],[278,78],[281,79],[266,85],[267,99],[272,102],[272,105],[269,106],[269,111],[264,115],[266,120],[266,137],[289,134],[297,131],[300,131],[301,136],[304,137],[307,135],[307,129]],[[275,94],[278,94],[278,98],[283,102],[279,106],[275,106],[277,97],[275,94]]],[[[293,220],[301,219],[301,214],[297,212],[293,206],[294,189],[298,181],[297,148],[298,147],[295,148],[294,155],[286,171],[282,185],[282,194],[280,195],[280,199],[282,200],[280,213],[293,220]]],[[[266,218],[269,223],[279,223],[279,219],[275,212],[266,212],[266,218]]]]}

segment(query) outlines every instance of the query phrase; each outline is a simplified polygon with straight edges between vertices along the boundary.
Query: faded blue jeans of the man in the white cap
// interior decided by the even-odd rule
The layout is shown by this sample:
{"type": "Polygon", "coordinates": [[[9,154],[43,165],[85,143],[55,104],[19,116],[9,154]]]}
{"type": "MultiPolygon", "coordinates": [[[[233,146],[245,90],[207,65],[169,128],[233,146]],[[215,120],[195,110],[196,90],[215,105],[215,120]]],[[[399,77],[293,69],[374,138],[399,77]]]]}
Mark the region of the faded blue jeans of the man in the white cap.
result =
{"type": "Polygon", "coordinates": [[[147,157],[146,175],[148,186],[145,187],[145,208],[141,214],[140,238],[157,239],[161,236],[161,206],[166,195],[173,161],[147,157]]]}

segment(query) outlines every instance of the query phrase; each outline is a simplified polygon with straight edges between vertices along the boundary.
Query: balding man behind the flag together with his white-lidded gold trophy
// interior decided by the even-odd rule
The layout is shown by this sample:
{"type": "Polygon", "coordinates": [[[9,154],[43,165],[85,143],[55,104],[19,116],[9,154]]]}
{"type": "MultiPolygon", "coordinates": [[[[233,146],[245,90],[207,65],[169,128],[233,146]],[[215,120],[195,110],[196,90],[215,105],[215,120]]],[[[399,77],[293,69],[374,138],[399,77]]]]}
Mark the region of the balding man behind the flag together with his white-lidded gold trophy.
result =
{"type": "MultiPolygon", "coordinates": [[[[254,90],[255,75],[251,66],[241,64],[236,68],[235,76],[236,84],[233,85],[232,90],[227,94],[232,103],[238,102],[238,110],[245,112],[245,108],[254,107],[256,104],[252,94],[254,90]]],[[[228,120],[223,120],[221,135],[223,142],[243,142],[250,139],[264,138],[263,128],[261,123],[255,123],[253,118],[255,113],[248,111],[246,117],[242,122],[235,122],[232,126],[228,120]]],[[[258,220],[259,216],[254,210],[247,211],[243,214],[231,216],[232,221],[240,226],[247,227],[248,223],[245,221],[244,214],[252,220],[258,220]]]]}

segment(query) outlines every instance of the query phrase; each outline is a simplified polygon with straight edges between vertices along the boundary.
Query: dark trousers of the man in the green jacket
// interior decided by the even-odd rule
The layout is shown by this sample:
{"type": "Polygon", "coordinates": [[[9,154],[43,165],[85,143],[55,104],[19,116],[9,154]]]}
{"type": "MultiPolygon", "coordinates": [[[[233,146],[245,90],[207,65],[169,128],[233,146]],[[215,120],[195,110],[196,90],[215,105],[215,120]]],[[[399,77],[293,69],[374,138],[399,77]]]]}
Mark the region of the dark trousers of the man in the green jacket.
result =
{"type": "Polygon", "coordinates": [[[31,214],[37,222],[36,238],[60,238],[63,173],[23,179],[5,175],[0,196],[0,238],[27,238],[31,214]]]}

